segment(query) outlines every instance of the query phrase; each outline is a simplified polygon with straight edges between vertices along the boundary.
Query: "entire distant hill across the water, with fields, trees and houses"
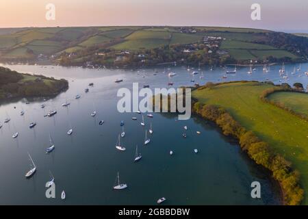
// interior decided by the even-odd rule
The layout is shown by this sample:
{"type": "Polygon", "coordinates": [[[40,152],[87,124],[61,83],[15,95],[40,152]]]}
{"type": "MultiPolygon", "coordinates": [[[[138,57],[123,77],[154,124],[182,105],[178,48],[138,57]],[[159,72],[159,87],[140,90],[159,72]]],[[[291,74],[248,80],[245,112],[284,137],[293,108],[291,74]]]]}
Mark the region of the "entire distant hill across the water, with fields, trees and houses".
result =
{"type": "Polygon", "coordinates": [[[308,57],[308,39],[297,35],[236,27],[6,28],[0,29],[0,61],[51,59],[68,65],[85,62],[141,64],[136,57],[118,55],[121,51],[128,51],[134,55],[148,55],[140,60],[143,64],[179,60],[190,63],[193,56],[198,56],[198,62],[204,64],[250,60],[294,62],[308,57]],[[149,51],[159,48],[163,48],[169,57],[150,57],[149,51]],[[184,50],[191,57],[179,54],[184,50]],[[101,57],[97,57],[98,53],[101,57]]]}

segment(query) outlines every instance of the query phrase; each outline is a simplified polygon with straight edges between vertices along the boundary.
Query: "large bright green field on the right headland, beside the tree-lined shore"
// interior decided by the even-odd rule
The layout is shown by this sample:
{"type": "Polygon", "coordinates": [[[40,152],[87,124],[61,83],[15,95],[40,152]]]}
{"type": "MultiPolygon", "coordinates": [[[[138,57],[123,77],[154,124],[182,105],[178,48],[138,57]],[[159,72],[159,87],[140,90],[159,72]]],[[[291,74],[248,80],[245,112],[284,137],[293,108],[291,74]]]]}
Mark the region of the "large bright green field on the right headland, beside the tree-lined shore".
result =
{"type": "MultiPolygon", "coordinates": [[[[261,92],[272,87],[257,82],[225,83],[211,89],[194,90],[192,96],[201,103],[223,107],[243,127],[253,131],[261,140],[268,142],[272,149],[290,160],[294,168],[300,171],[300,181],[307,192],[308,122],[279,107],[262,102],[259,99],[261,92]]],[[[307,98],[296,96],[296,99],[305,103],[307,98]]],[[[303,204],[308,204],[307,195],[303,204]]]]}

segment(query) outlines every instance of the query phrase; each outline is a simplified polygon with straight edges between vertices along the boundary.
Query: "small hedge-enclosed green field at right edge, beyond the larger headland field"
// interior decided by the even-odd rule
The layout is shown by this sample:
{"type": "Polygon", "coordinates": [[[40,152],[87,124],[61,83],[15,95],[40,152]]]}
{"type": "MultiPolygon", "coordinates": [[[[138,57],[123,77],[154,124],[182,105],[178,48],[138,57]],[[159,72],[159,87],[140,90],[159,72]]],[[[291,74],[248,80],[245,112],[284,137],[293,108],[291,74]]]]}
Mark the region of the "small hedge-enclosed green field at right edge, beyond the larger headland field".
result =
{"type": "Polygon", "coordinates": [[[283,103],[285,107],[292,109],[298,114],[308,116],[308,95],[295,92],[274,92],[268,96],[270,101],[283,103]]]}

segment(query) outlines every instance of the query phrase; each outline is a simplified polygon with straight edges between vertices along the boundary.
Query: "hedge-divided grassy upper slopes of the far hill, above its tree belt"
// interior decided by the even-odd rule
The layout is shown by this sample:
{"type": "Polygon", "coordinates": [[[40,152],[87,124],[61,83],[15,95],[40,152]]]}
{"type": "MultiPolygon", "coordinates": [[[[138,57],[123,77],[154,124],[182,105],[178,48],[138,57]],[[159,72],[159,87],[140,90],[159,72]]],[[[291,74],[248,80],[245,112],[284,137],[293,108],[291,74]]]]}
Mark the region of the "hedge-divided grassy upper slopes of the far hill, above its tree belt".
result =
{"type": "MultiPolygon", "coordinates": [[[[203,44],[205,36],[222,38],[221,45],[218,43],[219,49],[227,51],[231,59],[239,61],[266,60],[268,57],[298,60],[308,53],[305,46],[308,39],[307,42],[303,40],[306,38],[262,29],[232,27],[40,27],[11,31],[0,29],[0,33],[3,33],[0,34],[0,60],[33,60],[40,54],[60,55],[62,52],[87,50],[89,47],[97,47],[97,51],[116,49],[143,52],[144,49],[168,45],[186,47],[198,43],[198,47],[204,48],[209,47],[203,44]]],[[[211,47],[209,49],[213,50],[211,47]]],[[[196,55],[204,53],[196,51],[196,55]]]]}

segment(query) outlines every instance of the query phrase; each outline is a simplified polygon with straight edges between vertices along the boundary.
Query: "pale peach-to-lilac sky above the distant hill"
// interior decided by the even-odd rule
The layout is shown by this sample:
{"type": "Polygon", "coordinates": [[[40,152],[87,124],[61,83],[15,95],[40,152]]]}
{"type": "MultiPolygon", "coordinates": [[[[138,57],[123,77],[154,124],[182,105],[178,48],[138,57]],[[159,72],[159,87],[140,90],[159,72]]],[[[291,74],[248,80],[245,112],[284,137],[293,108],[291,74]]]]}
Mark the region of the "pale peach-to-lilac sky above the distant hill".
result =
{"type": "Polygon", "coordinates": [[[308,32],[308,0],[0,0],[0,27],[175,25],[308,32]],[[55,5],[55,20],[46,5],[55,5]],[[261,20],[251,19],[251,5],[261,20]]]}

